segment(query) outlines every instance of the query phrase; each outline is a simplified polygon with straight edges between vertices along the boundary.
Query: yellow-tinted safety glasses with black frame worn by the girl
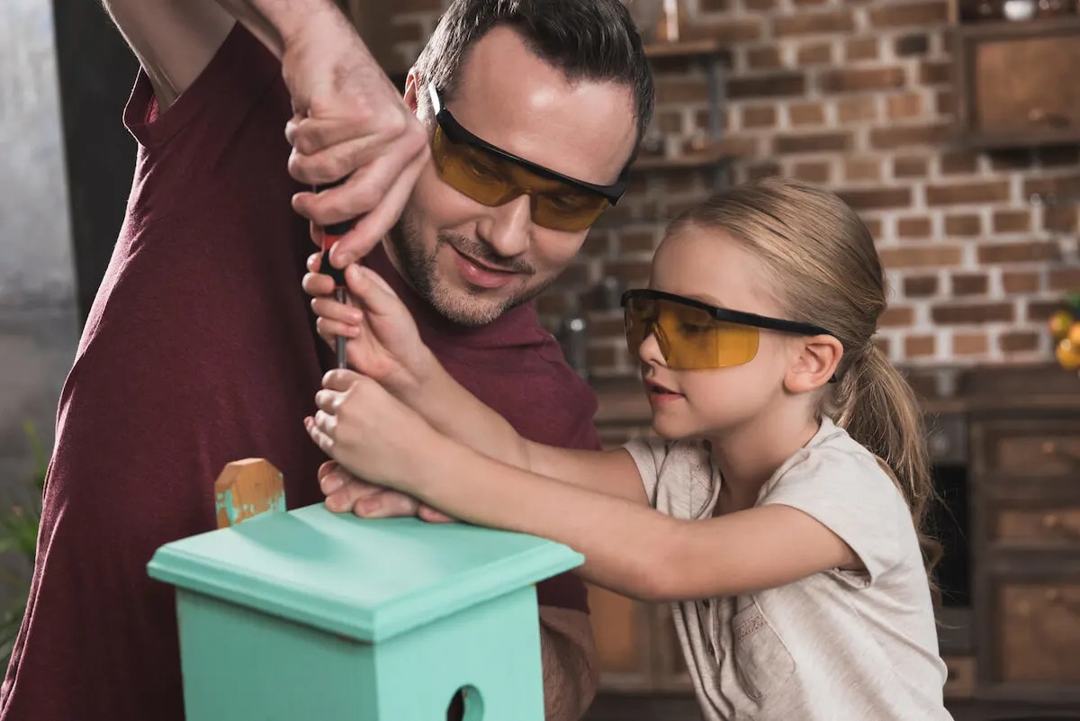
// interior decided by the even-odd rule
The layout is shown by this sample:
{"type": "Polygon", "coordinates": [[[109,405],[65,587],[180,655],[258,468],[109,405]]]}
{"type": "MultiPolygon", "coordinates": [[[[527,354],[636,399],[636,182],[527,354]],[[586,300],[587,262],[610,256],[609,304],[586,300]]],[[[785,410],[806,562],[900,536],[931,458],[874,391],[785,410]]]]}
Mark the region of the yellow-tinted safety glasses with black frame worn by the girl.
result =
{"type": "Polygon", "coordinates": [[[674,370],[708,370],[750,363],[757,355],[761,328],[799,336],[834,335],[807,323],[729,311],[661,290],[627,290],[622,305],[631,355],[637,357],[642,343],[654,335],[664,363],[674,370]]]}

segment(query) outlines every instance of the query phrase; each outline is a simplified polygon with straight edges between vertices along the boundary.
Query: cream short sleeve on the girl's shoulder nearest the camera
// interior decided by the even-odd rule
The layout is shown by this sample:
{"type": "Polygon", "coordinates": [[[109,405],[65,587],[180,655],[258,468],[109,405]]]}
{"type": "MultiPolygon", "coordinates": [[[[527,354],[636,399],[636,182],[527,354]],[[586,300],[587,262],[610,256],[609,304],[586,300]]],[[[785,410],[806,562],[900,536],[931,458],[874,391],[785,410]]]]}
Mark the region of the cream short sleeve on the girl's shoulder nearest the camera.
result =
{"type": "Polygon", "coordinates": [[[906,503],[875,463],[833,449],[812,449],[768,490],[760,505],[785,505],[811,516],[847,543],[866,572],[839,572],[856,587],[874,584],[902,558],[906,503]]]}

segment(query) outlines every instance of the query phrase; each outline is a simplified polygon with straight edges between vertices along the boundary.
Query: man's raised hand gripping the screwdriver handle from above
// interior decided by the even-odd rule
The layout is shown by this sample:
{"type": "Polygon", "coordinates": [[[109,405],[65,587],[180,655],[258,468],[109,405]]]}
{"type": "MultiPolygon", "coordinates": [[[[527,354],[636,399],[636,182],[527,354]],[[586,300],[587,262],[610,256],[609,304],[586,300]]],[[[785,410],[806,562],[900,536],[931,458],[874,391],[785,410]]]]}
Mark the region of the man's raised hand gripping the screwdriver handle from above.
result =
{"type": "Polygon", "coordinates": [[[293,207],[318,226],[359,218],[334,246],[338,268],[366,255],[401,215],[430,158],[428,134],[340,12],[315,13],[282,36],[293,97],[289,174],[309,185],[348,177],[293,207]]]}

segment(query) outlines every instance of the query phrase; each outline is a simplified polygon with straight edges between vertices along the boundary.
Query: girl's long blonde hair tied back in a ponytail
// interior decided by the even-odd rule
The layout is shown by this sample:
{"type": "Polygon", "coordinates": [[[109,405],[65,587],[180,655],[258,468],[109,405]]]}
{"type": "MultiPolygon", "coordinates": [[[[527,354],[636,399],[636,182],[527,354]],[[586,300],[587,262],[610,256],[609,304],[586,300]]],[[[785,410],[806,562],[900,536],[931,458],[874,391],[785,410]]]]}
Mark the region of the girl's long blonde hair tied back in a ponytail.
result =
{"type": "Polygon", "coordinates": [[[669,234],[687,227],[727,231],[775,278],[770,290],[788,318],[827,328],[843,344],[839,382],[826,386],[819,410],[892,471],[932,574],[941,546],[924,529],[936,494],[922,412],[912,387],[873,342],[887,301],[885,270],[866,225],[836,194],[772,176],[687,210],[672,221],[669,234]]]}

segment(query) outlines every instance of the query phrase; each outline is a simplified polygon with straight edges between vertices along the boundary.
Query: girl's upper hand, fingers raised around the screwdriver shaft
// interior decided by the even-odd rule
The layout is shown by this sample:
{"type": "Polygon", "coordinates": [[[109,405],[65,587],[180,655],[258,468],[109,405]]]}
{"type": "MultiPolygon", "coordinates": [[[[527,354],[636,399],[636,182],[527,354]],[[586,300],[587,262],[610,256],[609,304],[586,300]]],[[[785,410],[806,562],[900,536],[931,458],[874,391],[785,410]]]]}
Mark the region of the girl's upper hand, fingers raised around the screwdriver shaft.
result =
{"type": "Polygon", "coordinates": [[[420,340],[408,309],[378,273],[355,264],[345,272],[352,302],[338,302],[330,277],[318,272],[321,259],[318,253],[308,259],[311,272],[303,277],[305,291],[313,296],[319,335],[330,345],[335,336],[348,338],[349,365],[397,397],[417,391],[437,362],[420,340]]]}

